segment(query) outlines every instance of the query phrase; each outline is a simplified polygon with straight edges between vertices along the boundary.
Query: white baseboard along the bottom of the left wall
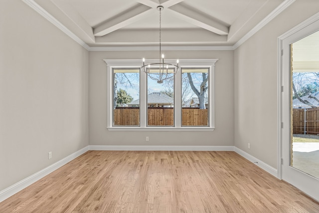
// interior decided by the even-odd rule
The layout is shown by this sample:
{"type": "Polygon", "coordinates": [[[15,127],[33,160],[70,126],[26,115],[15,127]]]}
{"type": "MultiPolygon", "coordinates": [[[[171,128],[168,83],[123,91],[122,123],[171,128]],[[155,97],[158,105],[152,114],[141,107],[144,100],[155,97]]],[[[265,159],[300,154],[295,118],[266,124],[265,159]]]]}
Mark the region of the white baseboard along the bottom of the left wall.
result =
{"type": "Polygon", "coordinates": [[[0,202],[4,201],[5,199],[11,197],[12,195],[18,193],[19,191],[23,190],[24,188],[30,186],[34,182],[40,180],[41,178],[47,176],[51,172],[59,169],[63,165],[69,163],[70,161],[74,160],[75,158],[79,157],[80,155],[89,151],[89,147],[84,147],[83,149],[63,158],[62,160],[44,168],[43,170],[19,181],[18,183],[0,191],[0,202]]]}

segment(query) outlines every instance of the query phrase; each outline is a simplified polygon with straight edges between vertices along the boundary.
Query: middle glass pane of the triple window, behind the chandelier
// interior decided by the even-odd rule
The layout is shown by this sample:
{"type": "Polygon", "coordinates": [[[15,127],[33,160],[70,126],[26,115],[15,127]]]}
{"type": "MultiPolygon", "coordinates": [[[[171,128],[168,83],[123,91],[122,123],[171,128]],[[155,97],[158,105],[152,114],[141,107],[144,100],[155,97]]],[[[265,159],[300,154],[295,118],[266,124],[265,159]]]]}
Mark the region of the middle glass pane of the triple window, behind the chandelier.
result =
{"type": "Polygon", "coordinates": [[[149,69],[149,72],[152,75],[148,75],[148,126],[174,126],[172,69],[165,70],[164,75],[160,75],[160,70],[156,68],[149,69]],[[162,83],[158,80],[162,80],[162,83]]]}

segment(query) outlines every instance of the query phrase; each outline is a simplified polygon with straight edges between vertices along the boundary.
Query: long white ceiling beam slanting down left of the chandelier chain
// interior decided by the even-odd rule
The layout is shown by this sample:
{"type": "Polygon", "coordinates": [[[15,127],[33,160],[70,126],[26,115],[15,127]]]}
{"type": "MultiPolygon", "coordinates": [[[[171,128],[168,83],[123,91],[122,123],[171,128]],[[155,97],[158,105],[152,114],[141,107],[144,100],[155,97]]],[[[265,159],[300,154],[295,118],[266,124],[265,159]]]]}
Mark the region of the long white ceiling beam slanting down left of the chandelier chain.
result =
{"type": "Polygon", "coordinates": [[[143,19],[146,15],[152,12],[153,8],[144,4],[132,7],[127,11],[105,21],[94,28],[95,36],[103,36],[138,20],[143,19]]]}

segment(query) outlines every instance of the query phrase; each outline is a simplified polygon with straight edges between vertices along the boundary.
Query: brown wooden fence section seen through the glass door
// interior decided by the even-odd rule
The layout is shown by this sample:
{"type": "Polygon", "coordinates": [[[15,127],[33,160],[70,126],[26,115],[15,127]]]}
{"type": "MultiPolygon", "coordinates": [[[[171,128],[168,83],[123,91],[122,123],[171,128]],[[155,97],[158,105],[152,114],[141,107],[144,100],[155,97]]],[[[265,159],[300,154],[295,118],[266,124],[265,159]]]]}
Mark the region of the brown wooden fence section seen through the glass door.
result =
{"type": "Polygon", "coordinates": [[[293,134],[319,134],[319,107],[293,109],[293,134]]]}

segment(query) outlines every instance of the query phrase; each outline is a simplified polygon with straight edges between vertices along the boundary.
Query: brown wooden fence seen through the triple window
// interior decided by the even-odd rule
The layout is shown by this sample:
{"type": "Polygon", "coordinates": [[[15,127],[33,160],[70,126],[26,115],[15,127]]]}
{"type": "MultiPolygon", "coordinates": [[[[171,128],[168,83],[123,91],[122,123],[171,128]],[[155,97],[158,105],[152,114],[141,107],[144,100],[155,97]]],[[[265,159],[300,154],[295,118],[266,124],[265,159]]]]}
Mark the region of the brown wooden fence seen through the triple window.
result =
{"type": "MultiPolygon", "coordinates": [[[[139,126],[139,107],[117,107],[114,111],[115,126],[139,126]]],[[[182,126],[207,126],[208,110],[199,108],[182,108],[182,126]]],[[[174,108],[149,107],[148,126],[173,126],[174,108]]]]}

